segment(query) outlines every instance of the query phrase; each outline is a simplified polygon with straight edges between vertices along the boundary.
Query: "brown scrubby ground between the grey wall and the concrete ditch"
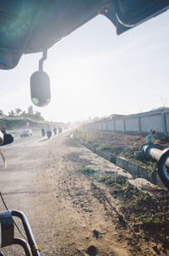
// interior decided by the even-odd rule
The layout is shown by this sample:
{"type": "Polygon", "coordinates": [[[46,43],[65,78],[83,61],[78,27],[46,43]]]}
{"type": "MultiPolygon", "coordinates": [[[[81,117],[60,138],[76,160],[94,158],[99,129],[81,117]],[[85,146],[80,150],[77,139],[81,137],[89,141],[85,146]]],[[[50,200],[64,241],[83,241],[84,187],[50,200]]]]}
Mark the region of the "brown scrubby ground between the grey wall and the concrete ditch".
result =
{"type": "MultiPolygon", "coordinates": [[[[156,162],[154,159],[150,159],[149,157],[136,159],[134,157],[134,152],[138,151],[139,146],[146,141],[145,135],[127,135],[112,131],[87,131],[85,129],[76,129],[74,136],[84,142],[91,143],[95,148],[108,150],[114,155],[128,159],[128,161],[150,170],[151,173],[156,171],[156,162]]],[[[165,142],[161,139],[156,141],[156,145],[164,149],[168,147],[168,144],[165,144],[165,142]]]]}

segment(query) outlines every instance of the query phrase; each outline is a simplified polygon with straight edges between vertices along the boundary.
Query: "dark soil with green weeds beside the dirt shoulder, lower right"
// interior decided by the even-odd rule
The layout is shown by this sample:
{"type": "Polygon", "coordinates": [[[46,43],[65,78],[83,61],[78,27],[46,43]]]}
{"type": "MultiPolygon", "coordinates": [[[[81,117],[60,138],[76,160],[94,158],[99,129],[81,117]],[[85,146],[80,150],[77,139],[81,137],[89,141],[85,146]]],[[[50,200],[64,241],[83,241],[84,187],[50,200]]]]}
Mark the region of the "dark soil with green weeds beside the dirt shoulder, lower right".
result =
{"type": "MultiPolygon", "coordinates": [[[[94,181],[105,184],[112,198],[119,199],[119,210],[123,220],[137,233],[169,248],[169,192],[157,186],[142,188],[129,183],[123,176],[106,175],[104,170],[96,170],[87,165],[82,170],[94,181]]],[[[157,248],[156,248],[157,250],[157,248]]]]}

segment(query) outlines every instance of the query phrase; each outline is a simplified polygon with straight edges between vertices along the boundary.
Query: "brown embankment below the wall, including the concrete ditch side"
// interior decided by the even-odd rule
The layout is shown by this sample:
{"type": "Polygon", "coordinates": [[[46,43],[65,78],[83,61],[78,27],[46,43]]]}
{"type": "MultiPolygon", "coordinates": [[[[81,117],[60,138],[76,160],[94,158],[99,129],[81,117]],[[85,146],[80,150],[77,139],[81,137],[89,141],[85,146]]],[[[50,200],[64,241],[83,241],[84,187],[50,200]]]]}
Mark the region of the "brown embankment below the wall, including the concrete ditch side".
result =
{"type": "Polygon", "coordinates": [[[134,178],[144,178],[155,185],[164,187],[153,159],[134,159],[134,151],[138,150],[140,144],[145,141],[144,136],[128,136],[115,132],[83,129],[75,130],[74,136],[85,147],[128,171],[134,178]]]}

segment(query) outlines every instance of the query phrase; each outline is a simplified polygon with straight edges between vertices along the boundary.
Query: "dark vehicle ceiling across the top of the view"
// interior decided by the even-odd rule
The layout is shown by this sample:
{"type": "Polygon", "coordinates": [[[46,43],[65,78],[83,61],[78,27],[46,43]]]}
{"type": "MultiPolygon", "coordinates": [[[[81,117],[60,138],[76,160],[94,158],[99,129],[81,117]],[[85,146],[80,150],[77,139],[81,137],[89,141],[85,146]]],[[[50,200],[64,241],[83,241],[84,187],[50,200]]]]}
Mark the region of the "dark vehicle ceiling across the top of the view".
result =
{"type": "Polygon", "coordinates": [[[117,35],[169,8],[169,0],[0,0],[0,69],[43,52],[98,14],[117,35]]]}

